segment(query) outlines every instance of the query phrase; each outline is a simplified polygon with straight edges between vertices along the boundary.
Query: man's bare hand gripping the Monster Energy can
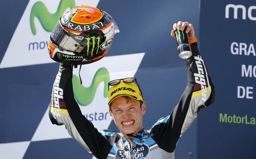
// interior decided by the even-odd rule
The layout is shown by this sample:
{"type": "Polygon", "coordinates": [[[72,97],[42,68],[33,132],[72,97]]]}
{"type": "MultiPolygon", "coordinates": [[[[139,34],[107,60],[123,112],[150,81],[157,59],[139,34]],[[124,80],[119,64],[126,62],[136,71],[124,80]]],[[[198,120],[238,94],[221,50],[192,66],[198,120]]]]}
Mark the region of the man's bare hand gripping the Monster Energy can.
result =
{"type": "Polygon", "coordinates": [[[194,31],[193,25],[190,24],[189,22],[182,22],[182,21],[179,21],[178,23],[173,24],[173,30],[171,32],[171,36],[174,39],[176,39],[175,31],[176,30],[183,31],[185,29],[185,27],[187,27],[186,33],[189,34],[189,39],[193,39],[195,37],[195,31],[194,31]]]}

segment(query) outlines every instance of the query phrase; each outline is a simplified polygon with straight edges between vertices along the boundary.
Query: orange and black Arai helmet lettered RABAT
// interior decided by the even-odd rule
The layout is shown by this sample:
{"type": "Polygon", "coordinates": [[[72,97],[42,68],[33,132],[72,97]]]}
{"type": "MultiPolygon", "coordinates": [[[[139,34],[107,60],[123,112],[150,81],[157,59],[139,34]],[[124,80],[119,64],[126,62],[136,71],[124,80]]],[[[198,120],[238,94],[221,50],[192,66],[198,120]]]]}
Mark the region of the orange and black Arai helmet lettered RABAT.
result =
{"type": "Polygon", "coordinates": [[[77,6],[57,22],[48,41],[49,56],[74,65],[102,59],[119,29],[106,12],[89,6],[77,6]]]}

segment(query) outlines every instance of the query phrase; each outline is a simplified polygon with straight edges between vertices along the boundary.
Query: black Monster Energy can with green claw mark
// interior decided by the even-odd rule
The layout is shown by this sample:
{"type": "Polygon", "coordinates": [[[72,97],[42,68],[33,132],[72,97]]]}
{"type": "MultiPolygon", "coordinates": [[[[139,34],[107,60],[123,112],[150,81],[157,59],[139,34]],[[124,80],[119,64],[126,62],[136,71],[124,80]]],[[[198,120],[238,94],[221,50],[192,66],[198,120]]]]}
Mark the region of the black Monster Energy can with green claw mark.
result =
{"type": "Polygon", "coordinates": [[[188,59],[192,55],[190,43],[189,43],[189,35],[186,34],[186,29],[187,28],[185,28],[183,31],[181,30],[175,31],[179,57],[182,59],[188,59]]]}

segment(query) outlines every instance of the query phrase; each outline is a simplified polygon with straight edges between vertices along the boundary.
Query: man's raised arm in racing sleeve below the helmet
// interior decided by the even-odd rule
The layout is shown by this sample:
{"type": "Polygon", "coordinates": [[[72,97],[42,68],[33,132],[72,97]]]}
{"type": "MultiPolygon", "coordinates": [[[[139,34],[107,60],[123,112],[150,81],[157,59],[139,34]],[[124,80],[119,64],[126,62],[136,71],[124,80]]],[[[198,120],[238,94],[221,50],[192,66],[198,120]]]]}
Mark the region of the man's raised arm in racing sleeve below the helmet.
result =
{"type": "Polygon", "coordinates": [[[51,122],[56,125],[64,124],[70,136],[98,159],[107,158],[112,148],[110,137],[101,134],[82,115],[73,95],[72,69],[70,64],[60,63],[49,110],[51,122]]]}

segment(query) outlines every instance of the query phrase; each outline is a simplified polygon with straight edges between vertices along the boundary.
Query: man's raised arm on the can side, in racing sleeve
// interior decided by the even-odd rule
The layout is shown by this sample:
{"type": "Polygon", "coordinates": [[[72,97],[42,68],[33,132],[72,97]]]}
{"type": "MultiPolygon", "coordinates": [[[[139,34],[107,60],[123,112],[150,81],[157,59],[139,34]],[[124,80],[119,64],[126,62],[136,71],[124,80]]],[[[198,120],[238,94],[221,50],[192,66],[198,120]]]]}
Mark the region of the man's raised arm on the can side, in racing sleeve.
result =
{"type": "Polygon", "coordinates": [[[214,86],[199,54],[196,39],[190,41],[192,56],[186,60],[188,85],[171,114],[158,120],[151,129],[152,138],[167,152],[174,151],[178,139],[190,127],[197,112],[209,106],[215,97],[214,86]]]}

